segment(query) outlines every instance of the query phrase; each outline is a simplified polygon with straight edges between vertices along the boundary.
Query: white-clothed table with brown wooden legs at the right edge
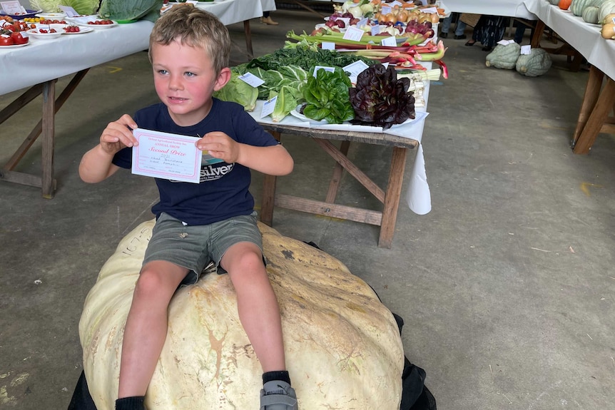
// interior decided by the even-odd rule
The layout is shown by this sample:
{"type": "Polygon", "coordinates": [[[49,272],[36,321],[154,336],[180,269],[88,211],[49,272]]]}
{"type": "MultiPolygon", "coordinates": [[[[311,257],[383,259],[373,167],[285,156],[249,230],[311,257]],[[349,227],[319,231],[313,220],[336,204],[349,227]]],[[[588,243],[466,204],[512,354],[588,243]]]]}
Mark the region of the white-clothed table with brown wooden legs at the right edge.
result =
{"type": "Polygon", "coordinates": [[[572,138],[574,153],[589,153],[599,133],[615,133],[615,118],[609,117],[615,103],[615,41],[603,39],[599,25],[586,23],[547,0],[524,0],[524,4],[539,19],[532,47],[539,46],[544,28],[549,27],[591,65],[572,138]]]}

